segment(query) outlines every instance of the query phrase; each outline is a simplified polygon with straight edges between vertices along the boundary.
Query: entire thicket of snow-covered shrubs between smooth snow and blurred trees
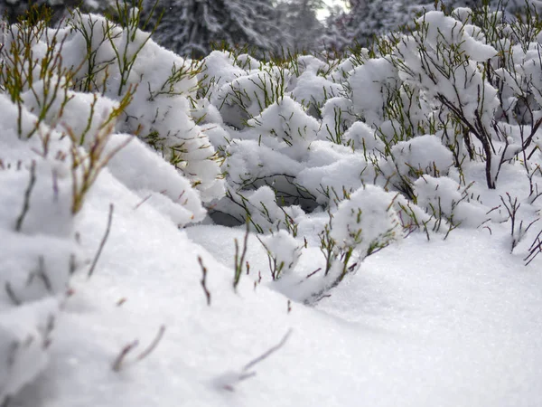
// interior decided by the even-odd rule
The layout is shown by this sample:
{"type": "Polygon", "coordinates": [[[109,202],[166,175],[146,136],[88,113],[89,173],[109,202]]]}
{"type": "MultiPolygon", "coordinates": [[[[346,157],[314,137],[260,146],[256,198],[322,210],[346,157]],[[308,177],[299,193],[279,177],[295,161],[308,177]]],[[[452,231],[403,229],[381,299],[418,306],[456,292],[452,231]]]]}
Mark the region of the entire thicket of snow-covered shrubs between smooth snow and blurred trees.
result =
{"type": "MultiPolygon", "coordinates": [[[[247,236],[266,248],[271,287],[296,300],[318,298],[409,233],[491,232],[519,201],[503,209],[482,200],[481,184],[496,187],[514,166],[528,175],[528,204],[540,195],[532,22],[430,12],[410,32],[335,61],[211,52],[193,62],[139,31],[137,10],[119,10],[117,23],[74,13],[58,30],[3,33],[0,185],[10,194],[0,232],[10,244],[0,250],[0,327],[8,342],[30,333],[47,343],[55,298],[84,262],[74,214],[105,168],[177,226],[202,221],[203,203],[206,222],[247,222],[247,236]],[[310,280],[299,270],[305,254],[321,261],[310,280]],[[42,305],[48,311],[34,314],[42,305]],[[35,318],[15,328],[15,309],[35,318]]],[[[511,230],[513,239],[527,232],[511,230]]],[[[246,245],[237,249],[236,288],[248,270],[246,245]]],[[[0,389],[12,394],[39,373],[46,346],[33,346],[14,353],[13,365],[27,355],[42,362],[27,376],[0,375],[0,389]]]]}

